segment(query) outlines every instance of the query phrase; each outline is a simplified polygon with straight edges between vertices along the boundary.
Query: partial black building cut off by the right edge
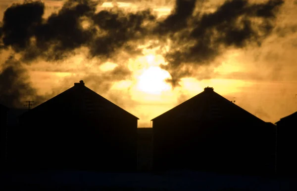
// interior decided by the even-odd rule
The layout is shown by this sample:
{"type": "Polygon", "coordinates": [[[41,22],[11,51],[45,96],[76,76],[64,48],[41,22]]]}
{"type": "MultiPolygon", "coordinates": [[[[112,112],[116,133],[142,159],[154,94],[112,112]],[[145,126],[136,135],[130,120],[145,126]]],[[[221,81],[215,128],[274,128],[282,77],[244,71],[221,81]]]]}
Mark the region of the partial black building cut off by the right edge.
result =
{"type": "Polygon", "coordinates": [[[277,173],[297,174],[297,112],[281,118],[277,126],[277,173]]]}

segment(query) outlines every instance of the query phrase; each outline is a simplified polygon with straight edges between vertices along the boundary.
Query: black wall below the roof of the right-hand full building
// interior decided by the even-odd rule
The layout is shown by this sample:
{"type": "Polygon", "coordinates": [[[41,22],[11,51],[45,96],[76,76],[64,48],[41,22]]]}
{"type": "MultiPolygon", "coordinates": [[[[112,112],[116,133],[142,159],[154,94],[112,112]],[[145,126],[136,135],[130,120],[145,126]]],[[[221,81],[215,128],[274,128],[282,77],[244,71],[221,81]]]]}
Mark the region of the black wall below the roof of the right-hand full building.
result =
{"type": "Polygon", "coordinates": [[[153,121],[153,169],[274,172],[273,129],[242,121],[153,121]]]}

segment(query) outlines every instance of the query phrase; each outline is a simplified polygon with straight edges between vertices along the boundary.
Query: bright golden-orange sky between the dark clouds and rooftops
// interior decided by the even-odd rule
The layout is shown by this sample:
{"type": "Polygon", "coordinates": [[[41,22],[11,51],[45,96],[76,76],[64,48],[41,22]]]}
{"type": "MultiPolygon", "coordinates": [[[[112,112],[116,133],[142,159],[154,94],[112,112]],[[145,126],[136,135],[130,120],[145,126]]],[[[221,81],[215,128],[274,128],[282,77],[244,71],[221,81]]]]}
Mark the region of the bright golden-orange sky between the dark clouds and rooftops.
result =
{"type": "MultiPolygon", "coordinates": [[[[260,0],[261,1],[261,0],[260,0]]],[[[62,5],[60,1],[45,0],[46,14],[62,5]]],[[[165,2],[165,1],[164,1],[165,2]]],[[[210,0],[207,9],[215,9],[223,0],[210,0]]],[[[10,3],[0,0],[2,9],[10,3]]],[[[173,3],[147,3],[159,16],[170,13],[173,3]]],[[[102,7],[111,7],[105,2],[102,7]]],[[[139,3],[118,2],[122,8],[139,9],[139,3]]],[[[101,8],[102,8],[101,7],[101,8]]],[[[1,10],[1,15],[3,14],[1,10]]],[[[161,69],[166,64],[158,48],[149,49],[152,41],[139,44],[143,55],[131,57],[124,52],[114,61],[98,65],[100,60],[88,59],[84,48],[77,50],[76,56],[59,63],[37,60],[27,66],[33,85],[40,94],[61,91],[83,79],[86,86],[140,118],[139,127],[150,127],[150,119],[160,115],[183,101],[203,91],[206,86],[265,121],[276,122],[279,118],[297,111],[297,3],[286,0],[277,17],[274,33],[261,47],[247,46],[244,49],[229,49],[207,66],[195,68],[196,76],[183,78],[180,86],[172,88],[165,80],[170,74],[161,69]],[[285,33],[284,37],[281,33],[285,33]],[[132,76],[121,81],[109,81],[107,90],[98,85],[98,74],[112,70],[121,62],[132,71],[132,76]],[[95,77],[89,77],[94,74],[95,77]],[[210,76],[201,79],[200,76],[210,76]],[[86,77],[88,76],[88,77],[86,77]],[[235,98],[233,98],[235,97],[235,98]]],[[[4,55],[5,52],[2,52],[4,55]]],[[[4,57],[1,58],[1,62],[4,57]]],[[[104,85],[104,83],[103,83],[104,85]]]]}

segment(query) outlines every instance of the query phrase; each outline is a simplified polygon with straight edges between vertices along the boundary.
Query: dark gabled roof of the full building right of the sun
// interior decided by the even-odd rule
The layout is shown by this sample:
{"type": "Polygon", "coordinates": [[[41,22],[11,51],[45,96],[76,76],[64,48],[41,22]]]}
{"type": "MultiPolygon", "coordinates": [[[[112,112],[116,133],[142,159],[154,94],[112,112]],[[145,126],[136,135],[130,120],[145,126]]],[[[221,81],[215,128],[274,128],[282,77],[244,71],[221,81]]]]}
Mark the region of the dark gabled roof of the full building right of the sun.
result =
{"type": "Polygon", "coordinates": [[[154,121],[162,117],[183,117],[184,119],[189,120],[233,120],[240,118],[264,122],[255,115],[248,113],[246,110],[214,92],[211,87],[204,88],[203,92],[151,120],[154,121]]]}

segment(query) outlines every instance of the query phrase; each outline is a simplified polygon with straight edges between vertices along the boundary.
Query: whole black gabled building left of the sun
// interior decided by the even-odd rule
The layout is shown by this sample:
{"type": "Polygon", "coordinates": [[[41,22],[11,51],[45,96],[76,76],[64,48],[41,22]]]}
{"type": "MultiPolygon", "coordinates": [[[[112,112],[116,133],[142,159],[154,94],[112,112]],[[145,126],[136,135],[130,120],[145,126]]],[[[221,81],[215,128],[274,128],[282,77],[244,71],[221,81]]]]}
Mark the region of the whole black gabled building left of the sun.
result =
{"type": "Polygon", "coordinates": [[[20,167],[135,171],[137,121],[81,80],[20,116],[20,167]]]}

